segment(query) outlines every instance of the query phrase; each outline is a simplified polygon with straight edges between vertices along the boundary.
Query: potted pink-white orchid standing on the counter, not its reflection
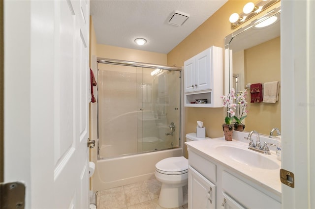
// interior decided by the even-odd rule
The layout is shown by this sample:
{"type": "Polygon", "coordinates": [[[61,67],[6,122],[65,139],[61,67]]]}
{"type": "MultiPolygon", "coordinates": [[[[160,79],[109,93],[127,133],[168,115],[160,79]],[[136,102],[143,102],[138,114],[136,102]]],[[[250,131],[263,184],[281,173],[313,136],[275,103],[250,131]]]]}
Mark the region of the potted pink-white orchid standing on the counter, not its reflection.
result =
{"type": "Polygon", "coordinates": [[[232,141],[233,127],[232,124],[233,117],[235,115],[236,104],[233,103],[236,100],[235,90],[231,89],[230,93],[226,96],[221,96],[223,100],[223,106],[227,108],[227,116],[225,117],[225,124],[222,125],[224,131],[224,137],[226,141],[232,141]]]}

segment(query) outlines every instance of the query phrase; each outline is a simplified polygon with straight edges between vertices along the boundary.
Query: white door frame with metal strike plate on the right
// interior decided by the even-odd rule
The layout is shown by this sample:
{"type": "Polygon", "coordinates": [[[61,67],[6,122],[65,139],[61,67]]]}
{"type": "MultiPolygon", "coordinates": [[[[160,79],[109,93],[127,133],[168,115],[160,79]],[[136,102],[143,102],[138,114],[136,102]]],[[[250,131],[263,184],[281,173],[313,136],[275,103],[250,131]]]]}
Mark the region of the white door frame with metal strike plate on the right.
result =
{"type": "Polygon", "coordinates": [[[282,168],[294,188],[282,184],[283,209],[315,208],[315,1],[281,2],[282,168]]]}

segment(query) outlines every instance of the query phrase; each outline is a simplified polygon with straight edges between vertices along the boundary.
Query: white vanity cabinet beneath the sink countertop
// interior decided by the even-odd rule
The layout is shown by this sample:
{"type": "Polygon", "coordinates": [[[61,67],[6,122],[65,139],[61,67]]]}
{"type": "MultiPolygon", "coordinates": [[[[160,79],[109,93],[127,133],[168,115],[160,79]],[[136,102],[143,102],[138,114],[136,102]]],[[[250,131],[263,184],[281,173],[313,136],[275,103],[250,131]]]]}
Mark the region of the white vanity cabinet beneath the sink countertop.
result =
{"type": "Polygon", "coordinates": [[[188,151],[189,209],[281,209],[281,197],[259,182],[213,159],[211,153],[206,155],[189,144],[188,151]],[[207,195],[209,191],[213,193],[207,195]]]}

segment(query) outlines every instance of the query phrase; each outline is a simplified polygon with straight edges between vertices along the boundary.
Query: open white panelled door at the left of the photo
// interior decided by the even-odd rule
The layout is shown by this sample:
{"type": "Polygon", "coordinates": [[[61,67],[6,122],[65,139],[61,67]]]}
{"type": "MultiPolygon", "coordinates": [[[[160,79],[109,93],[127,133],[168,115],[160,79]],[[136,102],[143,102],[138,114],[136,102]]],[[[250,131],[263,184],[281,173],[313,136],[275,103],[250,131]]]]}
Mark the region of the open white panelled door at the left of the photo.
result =
{"type": "Polygon", "coordinates": [[[26,208],[89,206],[89,1],[4,1],[4,181],[26,208]]]}

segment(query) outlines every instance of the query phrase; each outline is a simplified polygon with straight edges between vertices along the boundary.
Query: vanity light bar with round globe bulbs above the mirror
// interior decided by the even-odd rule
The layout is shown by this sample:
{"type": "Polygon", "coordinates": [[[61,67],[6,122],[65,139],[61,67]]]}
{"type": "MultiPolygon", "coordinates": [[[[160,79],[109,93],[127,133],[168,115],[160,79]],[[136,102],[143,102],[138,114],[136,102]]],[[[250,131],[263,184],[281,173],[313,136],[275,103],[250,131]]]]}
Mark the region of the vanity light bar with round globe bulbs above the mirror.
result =
{"type": "Polygon", "coordinates": [[[269,8],[273,4],[279,2],[280,0],[260,0],[256,3],[256,5],[252,2],[245,4],[243,8],[243,13],[233,13],[231,14],[229,21],[231,23],[231,28],[235,29],[241,24],[245,23],[252,17],[256,16],[260,12],[269,8]]]}

